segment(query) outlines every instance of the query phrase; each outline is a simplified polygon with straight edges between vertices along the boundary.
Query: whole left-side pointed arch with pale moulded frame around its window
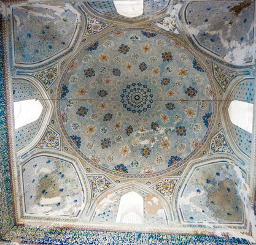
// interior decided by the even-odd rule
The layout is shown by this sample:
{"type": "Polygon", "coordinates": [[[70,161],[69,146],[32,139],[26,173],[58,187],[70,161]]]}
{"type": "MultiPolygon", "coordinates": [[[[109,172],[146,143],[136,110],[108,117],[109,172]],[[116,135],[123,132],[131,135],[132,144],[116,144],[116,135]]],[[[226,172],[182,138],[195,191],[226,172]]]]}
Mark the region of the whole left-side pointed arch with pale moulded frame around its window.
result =
{"type": "MultiPolygon", "coordinates": [[[[50,116],[52,115],[53,111],[53,103],[49,99],[45,90],[41,87],[39,82],[35,80],[33,77],[24,77],[20,76],[12,80],[12,89],[14,92],[13,101],[14,107],[16,107],[15,102],[22,102],[23,103],[33,105],[36,108],[40,108],[39,104],[42,105],[42,111],[35,121],[29,121],[29,124],[26,124],[21,127],[15,127],[14,129],[14,138],[15,138],[15,146],[18,156],[29,151],[29,149],[36,146],[38,141],[41,139],[42,135],[45,132],[45,129],[48,125],[48,121],[50,120],[50,116]],[[29,100],[28,102],[23,102],[29,100]],[[26,141],[25,141],[26,140],[26,141]]],[[[17,104],[19,105],[19,104],[17,104]]],[[[33,111],[36,110],[33,108],[33,111]]],[[[32,108],[29,108],[29,110],[32,108]]],[[[23,108],[21,107],[21,110],[23,108]]],[[[27,106],[24,108],[24,113],[26,116],[28,115],[27,106]]],[[[14,115],[14,119],[17,118],[18,111],[12,111],[14,115]],[[16,114],[16,115],[15,115],[16,114]]],[[[39,114],[39,111],[37,111],[39,114]]],[[[31,113],[32,114],[32,113],[31,113]]],[[[22,116],[22,115],[21,115],[22,116]]],[[[29,115],[30,116],[30,115],[29,115]]],[[[32,116],[32,115],[31,115],[32,116]]],[[[23,116],[22,116],[23,118],[23,116]]],[[[15,124],[17,119],[15,120],[15,124]]],[[[15,125],[16,126],[16,125],[15,125]]]]}

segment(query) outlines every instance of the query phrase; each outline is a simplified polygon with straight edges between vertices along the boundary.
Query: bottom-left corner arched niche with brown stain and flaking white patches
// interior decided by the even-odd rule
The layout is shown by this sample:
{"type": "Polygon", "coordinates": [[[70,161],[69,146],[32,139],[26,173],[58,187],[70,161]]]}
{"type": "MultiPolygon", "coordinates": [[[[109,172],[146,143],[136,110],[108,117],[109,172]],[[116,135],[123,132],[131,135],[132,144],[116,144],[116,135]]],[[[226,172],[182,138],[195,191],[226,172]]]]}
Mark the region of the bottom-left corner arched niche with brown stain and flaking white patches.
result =
{"type": "Polygon", "coordinates": [[[21,157],[22,162],[17,163],[20,170],[17,178],[21,183],[18,191],[23,195],[20,208],[28,217],[33,217],[31,219],[38,216],[42,220],[47,217],[64,221],[67,216],[69,219],[81,217],[90,206],[91,192],[80,160],[52,149],[37,149],[33,153],[21,157]],[[71,180],[69,186],[65,183],[67,178],[71,180]]]}

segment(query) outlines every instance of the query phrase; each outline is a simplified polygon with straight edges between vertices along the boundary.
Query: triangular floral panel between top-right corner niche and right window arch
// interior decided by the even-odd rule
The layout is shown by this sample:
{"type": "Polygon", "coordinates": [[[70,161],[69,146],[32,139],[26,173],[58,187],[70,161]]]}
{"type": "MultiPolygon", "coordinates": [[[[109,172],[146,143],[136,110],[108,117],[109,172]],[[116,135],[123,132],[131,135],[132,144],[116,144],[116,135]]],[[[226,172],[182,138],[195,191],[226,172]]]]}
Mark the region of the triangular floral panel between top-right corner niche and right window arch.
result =
{"type": "Polygon", "coordinates": [[[216,64],[212,64],[214,78],[220,85],[222,90],[225,92],[231,80],[238,75],[236,72],[231,72],[230,70],[223,69],[216,64]]]}

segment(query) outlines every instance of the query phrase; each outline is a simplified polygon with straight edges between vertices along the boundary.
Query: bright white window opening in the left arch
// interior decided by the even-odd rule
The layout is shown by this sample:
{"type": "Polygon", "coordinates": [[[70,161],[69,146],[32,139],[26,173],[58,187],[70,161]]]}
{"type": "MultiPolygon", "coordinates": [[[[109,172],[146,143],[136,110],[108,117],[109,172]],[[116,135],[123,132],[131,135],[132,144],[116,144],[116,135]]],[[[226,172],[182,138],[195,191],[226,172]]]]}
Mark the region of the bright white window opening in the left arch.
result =
{"type": "Polygon", "coordinates": [[[42,109],[41,102],[36,99],[14,102],[15,129],[36,121],[41,116],[42,109]]]}

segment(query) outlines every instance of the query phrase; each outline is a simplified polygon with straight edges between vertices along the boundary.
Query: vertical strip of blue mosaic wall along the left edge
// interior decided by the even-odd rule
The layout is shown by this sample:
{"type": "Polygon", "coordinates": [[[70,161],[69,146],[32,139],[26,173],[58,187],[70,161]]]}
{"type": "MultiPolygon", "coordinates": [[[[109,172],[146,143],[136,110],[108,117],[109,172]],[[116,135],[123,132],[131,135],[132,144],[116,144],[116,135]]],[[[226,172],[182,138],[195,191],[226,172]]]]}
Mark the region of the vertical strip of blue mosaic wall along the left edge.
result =
{"type": "Polygon", "coordinates": [[[9,149],[6,129],[6,93],[4,81],[4,50],[3,50],[2,15],[0,14],[0,239],[14,226],[12,211],[12,191],[9,173],[9,149]]]}

